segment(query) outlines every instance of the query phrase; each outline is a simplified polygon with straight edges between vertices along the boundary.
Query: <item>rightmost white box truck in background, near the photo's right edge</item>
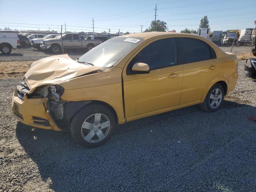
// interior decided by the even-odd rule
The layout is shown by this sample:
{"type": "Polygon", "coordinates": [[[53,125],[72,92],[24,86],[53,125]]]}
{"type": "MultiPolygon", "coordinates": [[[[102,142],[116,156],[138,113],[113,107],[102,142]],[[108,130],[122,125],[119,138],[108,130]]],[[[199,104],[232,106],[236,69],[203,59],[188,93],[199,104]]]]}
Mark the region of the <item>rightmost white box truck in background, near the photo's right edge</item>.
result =
{"type": "Polygon", "coordinates": [[[240,36],[236,42],[236,45],[251,45],[252,42],[255,41],[255,33],[256,29],[249,28],[249,29],[241,29],[240,30],[240,36]]]}

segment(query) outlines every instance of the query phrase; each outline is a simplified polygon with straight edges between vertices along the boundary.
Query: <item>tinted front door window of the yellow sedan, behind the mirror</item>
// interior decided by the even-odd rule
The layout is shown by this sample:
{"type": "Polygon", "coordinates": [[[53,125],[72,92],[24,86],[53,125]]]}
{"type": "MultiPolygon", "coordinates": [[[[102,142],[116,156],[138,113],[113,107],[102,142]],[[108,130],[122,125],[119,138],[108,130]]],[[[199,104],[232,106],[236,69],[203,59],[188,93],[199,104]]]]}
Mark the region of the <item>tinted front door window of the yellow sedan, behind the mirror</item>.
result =
{"type": "Polygon", "coordinates": [[[137,62],[148,64],[150,70],[177,65],[176,38],[165,38],[148,44],[131,60],[127,71],[137,62]]]}

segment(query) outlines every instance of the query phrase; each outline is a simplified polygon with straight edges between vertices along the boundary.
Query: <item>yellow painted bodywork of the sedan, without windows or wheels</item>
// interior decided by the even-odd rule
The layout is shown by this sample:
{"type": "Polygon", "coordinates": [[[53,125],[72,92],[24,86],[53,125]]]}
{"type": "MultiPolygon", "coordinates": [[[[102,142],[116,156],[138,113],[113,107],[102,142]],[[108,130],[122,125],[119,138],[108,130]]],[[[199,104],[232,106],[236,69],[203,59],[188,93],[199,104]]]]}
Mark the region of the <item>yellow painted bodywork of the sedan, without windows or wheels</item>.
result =
{"type": "MultiPolygon", "coordinates": [[[[67,55],[52,56],[34,62],[25,74],[30,86],[28,94],[33,93],[38,86],[59,84],[65,89],[61,96],[63,101],[105,103],[113,108],[118,124],[123,124],[154,114],[200,104],[204,102],[207,92],[216,82],[226,83],[227,94],[234,90],[238,78],[236,56],[223,52],[206,38],[169,32],[146,32],[124,36],[141,37],[143,40],[115,66],[102,72],[86,75],[101,68],[81,67],[67,55]],[[126,75],[129,62],[140,50],[156,40],[172,37],[202,40],[214,49],[216,59],[160,68],[148,74],[126,75]],[[64,63],[65,66],[63,66],[64,63]]],[[[12,99],[14,117],[24,124],[38,128],[61,130],[47,112],[46,102],[47,98],[27,98],[26,94],[24,100],[21,100],[15,91],[12,99]],[[15,111],[14,105],[18,105],[19,114],[15,111]],[[19,115],[22,115],[23,119],[19,115]],[[50,126],[34,124],[32,116],[48,120],[50,126]]]]}

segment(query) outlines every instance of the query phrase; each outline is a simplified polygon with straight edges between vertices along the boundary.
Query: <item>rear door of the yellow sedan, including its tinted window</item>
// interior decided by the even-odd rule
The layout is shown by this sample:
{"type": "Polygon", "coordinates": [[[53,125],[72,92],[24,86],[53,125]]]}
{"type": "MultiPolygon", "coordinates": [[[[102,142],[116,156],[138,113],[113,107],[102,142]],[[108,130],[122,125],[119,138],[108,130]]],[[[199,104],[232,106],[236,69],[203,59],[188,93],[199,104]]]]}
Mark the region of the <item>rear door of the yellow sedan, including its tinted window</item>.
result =
{"type": "Polygon", "coordinates": [[[206,42],[192,37],[180,37],[184,77],[180,104],[204,100],[209,83],[220,69],[216,53],[206,42]]]}

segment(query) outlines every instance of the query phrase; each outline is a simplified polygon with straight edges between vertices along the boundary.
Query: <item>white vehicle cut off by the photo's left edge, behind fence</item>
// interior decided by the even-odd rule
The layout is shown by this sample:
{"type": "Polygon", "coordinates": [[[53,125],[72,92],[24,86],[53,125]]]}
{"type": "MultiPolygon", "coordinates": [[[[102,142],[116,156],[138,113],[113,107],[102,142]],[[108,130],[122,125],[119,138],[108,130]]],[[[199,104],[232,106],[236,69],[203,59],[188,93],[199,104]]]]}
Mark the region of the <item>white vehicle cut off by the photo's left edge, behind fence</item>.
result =
{"type": "Polygon", "coordinates": [[[10,54],[12,49],[20,45],[17,32],[0,31],[0,51],[2,54],[10,54]]]}

